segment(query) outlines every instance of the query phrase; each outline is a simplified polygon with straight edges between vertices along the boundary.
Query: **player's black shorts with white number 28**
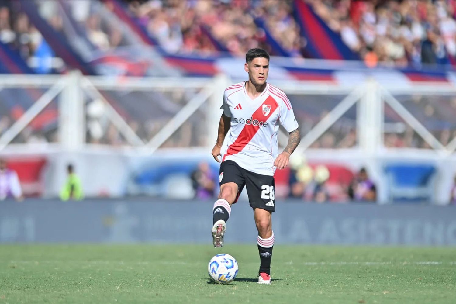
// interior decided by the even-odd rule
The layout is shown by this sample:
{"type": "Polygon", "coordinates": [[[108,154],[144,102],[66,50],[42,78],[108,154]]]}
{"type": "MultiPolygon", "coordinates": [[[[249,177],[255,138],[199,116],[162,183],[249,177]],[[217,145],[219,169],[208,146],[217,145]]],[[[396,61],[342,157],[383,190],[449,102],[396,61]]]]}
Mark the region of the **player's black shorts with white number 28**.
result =
{"type": "Polygon", "coordinates": [[[247,188],[249,203],[252,208],[275,211],[274,176],[262,175],[239,167],[233,160],[225,160],[220,165],[220,185],[236,183],[238,185],[238,201],[244,185],[247,188]]]}

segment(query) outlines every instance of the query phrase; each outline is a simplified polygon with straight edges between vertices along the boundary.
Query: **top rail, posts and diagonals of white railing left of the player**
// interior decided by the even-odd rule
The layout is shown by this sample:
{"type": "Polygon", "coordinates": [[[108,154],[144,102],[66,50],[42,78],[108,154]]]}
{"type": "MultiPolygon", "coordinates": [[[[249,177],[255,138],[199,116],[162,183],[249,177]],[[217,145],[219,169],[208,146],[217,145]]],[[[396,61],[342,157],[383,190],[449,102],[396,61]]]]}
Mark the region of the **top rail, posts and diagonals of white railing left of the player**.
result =
{"type": "MultiPolygon", "coordinates": [[[[105,115],[110,122],[124,136],[127,143],[142,153],[153,153],[163,144],[202,104],[207,103],[207,112],[218,108],[221,100],[220,92],[228,85],[225,77],[216,78],[139,78],[139,77],[85,77],[78,71],[73,71],[62,77],[12,75],[0,77],[0,91],[2,88],[41,88],[45,93],[28,108],[8,130],[0,136],[0,151],[22,131],[36,116],[51,103],[59,98],[59,144],[62,150],[78,150],[85,143],[85,103],[84,92],[92,100],[101,100],[105,115]],[[172,92],[176,88],[201,90],[181,108],[174,117],[162,126],[148,142],[144,142],[125,119],[106,100],[100,90],[109,91],[151,91],[161,90],[172,92]],[[217,98],[214,98],[217,96],[217,98]],[[217,100],[217,101],[216,101],[217,100]]],[[[212,118],[213,115],[207,115],[212,118]]],[[[211,119],[209,119],[211,120],[211,119]]],[[[211,120],[212,123],[214,120],[211,120]]],[[[218,122],[218,119],[217,119],[218,122]]],[[[212,131],[215,140],[217,129],[212,131]]],[[[208,143],[209,144],[209,143],[208,143]]],[[[106,148],[106,147],[105,147],[106,148]]]]}

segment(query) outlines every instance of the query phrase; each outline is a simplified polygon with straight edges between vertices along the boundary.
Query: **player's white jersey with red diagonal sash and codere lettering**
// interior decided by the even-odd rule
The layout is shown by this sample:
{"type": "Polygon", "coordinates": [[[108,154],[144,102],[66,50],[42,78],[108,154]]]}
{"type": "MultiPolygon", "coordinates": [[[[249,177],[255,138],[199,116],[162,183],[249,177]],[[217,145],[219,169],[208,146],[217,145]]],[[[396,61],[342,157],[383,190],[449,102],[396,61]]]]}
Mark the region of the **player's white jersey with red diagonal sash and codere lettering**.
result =
{"type": "Polygon", "coordinates": [[[269,83],[263,93],[251,99],[246,82],[228,87],[223,94],[223,113],[231,117],[222,161],[233,160],[241,168],[262,175],[274,175],[278,155],[277,131],[298,129],[290,100],[269,83]]]}

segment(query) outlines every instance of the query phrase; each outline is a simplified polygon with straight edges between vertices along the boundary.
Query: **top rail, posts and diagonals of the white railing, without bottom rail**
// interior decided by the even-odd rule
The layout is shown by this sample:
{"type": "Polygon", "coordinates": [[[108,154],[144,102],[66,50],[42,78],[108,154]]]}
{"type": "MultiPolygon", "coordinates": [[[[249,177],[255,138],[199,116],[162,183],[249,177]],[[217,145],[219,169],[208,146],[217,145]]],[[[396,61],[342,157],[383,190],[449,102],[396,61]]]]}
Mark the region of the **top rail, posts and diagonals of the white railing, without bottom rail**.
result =
{"type": "MultiPolygon", "coordinates": [[[[207,103],[208,129],[211,134],[207,140],[207,146],[215,142],[217,136],[217,124],[219,119],[219,103],[221,103],[224,88],[230,84],[229,79],[223,76],[214,78],[197,77],[95,77],[83,76],[80,72],[71,72],[66,76],[34,76],[34,75],[11,75],[0,77],[0,90],[3,88],[47,88],[47,91],[36,100],[31,108],[18,119],[0,137],[0,150],[10,144],[32,119],[36,117],[57,95],[62,95],[59,100],[59,134],[61,148],[64,150],[77,150],[85,143],[85,104],[82,91],[93,100],[101,100],[104,103],[105,114],[112,124],[124,136],[128,144],[141,149],[145,153],[153,153],[159,149],[192,114],[207,103]],[[200,90],[193,98],[188,100],[178,113],[175,114],[157,134],[145,142],[123,117],[116,112],[110,103],[104,98],[100,90],[109,91],[150,91],[162,90],[172,92],[175,88],[200,90]]],[[[358,147],[364,152],[373,154],[383,149],[383,103],[387,103],[398,115],[404,119],[431,147],[440,153],[449,155],[456,149],[456,139],[443,146],[435,136],[425,128],[409,111],[396,99],[397,94],[425,94],[425,95],[453,95],[455,89],[451,85],[420,85],[397,87],[392,84],[388,88],[380,87],[373,80],[358,83],[357,86],[340,86],[321,82],[276,82],[280,88],[290,94],[315,95],[345,95],[340,103],[333,108],[321,121],[319,121],[303,139],[299,151],[304,153],[311,147],[322,134],[340,119],[342,115],[354,104],[358,104],[357,137],[358,147]]],[[[285,144],[286,136],[281,134],[280,142],[285,144]]]]}

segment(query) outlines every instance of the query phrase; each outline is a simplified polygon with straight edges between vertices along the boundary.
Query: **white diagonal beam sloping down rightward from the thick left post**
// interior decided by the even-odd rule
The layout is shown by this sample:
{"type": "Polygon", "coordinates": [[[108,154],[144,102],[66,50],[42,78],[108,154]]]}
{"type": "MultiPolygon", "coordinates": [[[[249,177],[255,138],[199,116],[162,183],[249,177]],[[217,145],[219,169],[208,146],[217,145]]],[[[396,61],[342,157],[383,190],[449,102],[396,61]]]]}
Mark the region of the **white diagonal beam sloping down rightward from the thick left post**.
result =
{"type": "Polygon", "coordinates": [[[93,99],[100,99],[104,102],[105,109],[108,114],[109,120],[114,124],[114,126],[119,130],[129,144],[133,146],[143,146],[144,142],[140,137],[133,131],[130,126],[125,122],[122,116],[117,113],[117,111],[111,106],[111,104],[104,98],[103,94],[98,91],[98,89],[93,85],[87,77],[81,79],[81,85],[85,88],[88,95],[93,99]]]}

